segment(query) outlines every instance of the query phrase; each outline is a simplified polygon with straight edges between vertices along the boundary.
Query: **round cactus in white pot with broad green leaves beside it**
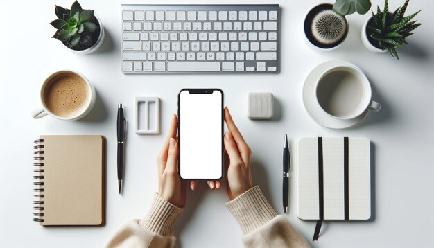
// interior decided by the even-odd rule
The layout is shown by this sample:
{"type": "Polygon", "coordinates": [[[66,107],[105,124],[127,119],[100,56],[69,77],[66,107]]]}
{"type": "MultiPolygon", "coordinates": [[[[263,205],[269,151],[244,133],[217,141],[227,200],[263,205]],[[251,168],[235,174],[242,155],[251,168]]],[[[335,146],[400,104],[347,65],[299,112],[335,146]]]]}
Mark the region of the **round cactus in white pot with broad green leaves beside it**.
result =
{"type": "Polygon", "coordinates": [[[309,10],[304,18],[304,34],[309,44],[319,51],[331,51],[347,38],[349,31],[346,15],[365,14],[371,8],[370,0],[337,0],[320,3],[309,10]]]}

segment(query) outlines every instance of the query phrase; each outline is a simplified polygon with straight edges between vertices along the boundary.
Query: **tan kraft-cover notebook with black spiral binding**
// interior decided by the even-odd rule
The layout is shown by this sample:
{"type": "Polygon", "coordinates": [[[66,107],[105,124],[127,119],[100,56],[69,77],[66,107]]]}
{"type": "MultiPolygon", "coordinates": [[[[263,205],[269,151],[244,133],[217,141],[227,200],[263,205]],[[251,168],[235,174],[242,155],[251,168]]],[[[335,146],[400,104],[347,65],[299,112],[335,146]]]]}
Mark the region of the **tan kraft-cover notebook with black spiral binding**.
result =
{"type": "Polygon", "coordinates": [[[34,141],[35,222],[105,224],[105,137],[49,136],[34,141]]]}

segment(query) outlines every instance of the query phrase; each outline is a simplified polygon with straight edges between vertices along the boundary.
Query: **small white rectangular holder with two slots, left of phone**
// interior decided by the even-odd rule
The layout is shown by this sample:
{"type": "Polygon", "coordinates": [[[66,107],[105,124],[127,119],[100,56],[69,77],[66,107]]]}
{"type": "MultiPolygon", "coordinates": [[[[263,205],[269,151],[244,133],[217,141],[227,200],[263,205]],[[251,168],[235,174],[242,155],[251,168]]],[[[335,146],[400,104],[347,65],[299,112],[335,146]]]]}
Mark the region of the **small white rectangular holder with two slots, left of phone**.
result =
{"type": "Polygon", "coordinates": [[[136,98],[136,134],[159,134],[159,98],[136,98]]]}

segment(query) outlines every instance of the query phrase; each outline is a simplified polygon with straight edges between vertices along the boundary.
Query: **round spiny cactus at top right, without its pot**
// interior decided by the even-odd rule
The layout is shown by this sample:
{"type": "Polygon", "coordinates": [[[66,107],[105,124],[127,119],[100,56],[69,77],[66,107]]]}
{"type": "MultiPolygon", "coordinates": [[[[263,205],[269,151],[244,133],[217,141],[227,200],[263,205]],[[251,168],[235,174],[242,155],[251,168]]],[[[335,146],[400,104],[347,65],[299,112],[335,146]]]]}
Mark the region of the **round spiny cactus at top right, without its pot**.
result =
{"type": "Polygon", "coordinates": [[[320,44],[336,44],[347,32],[347,21],[333,10],[323,10],[313,17],[311,31],[320,44]]]}

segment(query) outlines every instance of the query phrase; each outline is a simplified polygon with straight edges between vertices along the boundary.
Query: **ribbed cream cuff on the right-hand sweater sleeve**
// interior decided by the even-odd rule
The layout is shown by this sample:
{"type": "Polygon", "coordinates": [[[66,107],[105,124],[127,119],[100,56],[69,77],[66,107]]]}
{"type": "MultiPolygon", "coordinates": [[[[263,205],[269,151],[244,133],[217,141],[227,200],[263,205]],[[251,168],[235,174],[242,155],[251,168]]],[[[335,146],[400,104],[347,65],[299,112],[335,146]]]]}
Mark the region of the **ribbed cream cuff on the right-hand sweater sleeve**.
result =
{"type": "Polygon", "coordinates": [[[259,186],[245,191],[243,195],[227,202],[226,206],[240,224],[243,235],[251,233],[277,216],[259,186]]]}

